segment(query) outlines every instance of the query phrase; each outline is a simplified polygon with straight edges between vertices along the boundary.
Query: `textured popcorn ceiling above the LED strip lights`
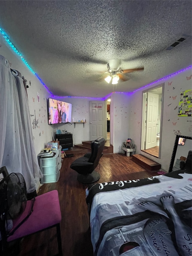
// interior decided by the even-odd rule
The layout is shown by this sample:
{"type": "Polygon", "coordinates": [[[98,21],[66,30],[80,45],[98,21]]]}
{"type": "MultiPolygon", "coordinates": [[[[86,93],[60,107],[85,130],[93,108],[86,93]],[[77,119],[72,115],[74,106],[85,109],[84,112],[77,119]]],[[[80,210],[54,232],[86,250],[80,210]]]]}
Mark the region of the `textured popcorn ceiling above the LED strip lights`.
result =
{"type": "Polygon", "coordinates": [[[191,65],[191,3],[0,1],[0,27],[54,95],[105,97],[191,65]],[[113,86],[100,80],[110,59],[144,71],[113,86]]]}

